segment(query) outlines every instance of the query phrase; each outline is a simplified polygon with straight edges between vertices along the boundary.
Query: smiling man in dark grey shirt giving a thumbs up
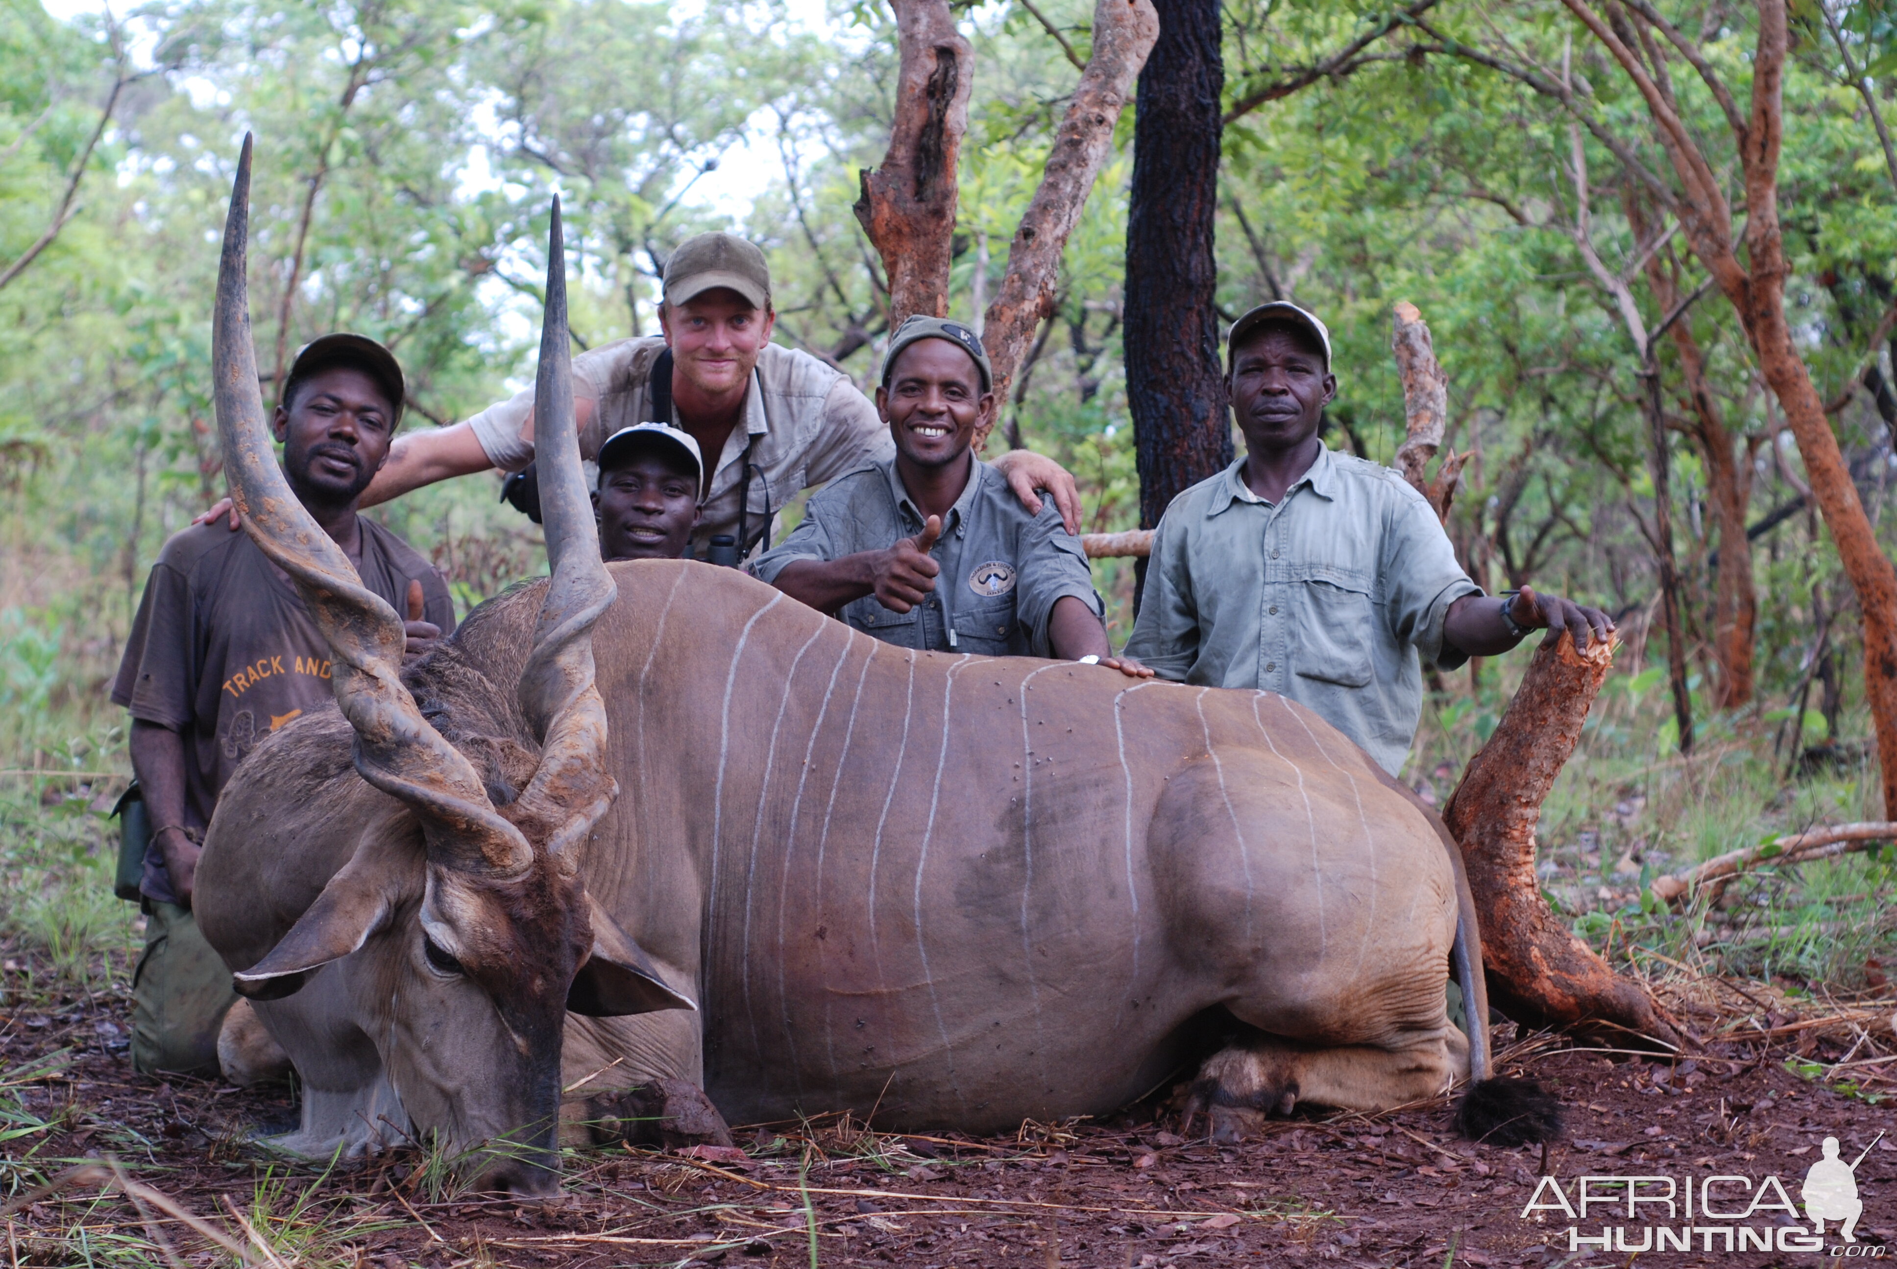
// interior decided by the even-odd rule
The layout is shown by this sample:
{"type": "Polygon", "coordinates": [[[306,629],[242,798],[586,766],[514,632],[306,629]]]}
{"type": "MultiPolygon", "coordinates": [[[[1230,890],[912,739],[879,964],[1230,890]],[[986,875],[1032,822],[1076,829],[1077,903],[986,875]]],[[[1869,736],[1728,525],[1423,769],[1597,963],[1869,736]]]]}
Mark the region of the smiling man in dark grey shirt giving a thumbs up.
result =
{"type": "Polygon", "coordinates": [[[876,412],[895,455],[840,476],[751,571],[857,630],[918,651],[1115,660],[1079,541],[1030,514],[969,446],[994,415],[973,330],[911,317],[890,340],[876,412]],[[941,582],[937,582],[941,579],[941,582]]]}

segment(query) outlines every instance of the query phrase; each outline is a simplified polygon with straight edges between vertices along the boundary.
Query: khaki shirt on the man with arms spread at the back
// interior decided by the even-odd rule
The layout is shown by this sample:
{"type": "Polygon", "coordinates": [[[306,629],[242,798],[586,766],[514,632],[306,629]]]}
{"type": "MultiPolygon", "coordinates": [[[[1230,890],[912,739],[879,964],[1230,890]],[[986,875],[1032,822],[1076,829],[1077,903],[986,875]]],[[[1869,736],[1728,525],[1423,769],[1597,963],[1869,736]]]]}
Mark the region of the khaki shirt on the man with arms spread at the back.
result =
{"type": "MultiPolygon", "coordinates": [[[[664,347],[666,341],[654,336],[615,340],[573,359],[575,400],[598,406],[580,429],[582,459],[599,453],[605,438],[622,427],[679,427],[675,408],[670,419],[653,417],[653,362],[664,347]]],[[[533,389],[488,406],[469,419],[469,427],[489,463],[518,472],[533,461],[533,389]]],[[[704,457],[711,465],[711,487],[700,491],[698,527],[692,529],[692,554],[700,560],[715,533],[738,535],[740,505],[746,512],[742,554],[764,537],[770,518],[793,497],[863,463],[895,457],[895,442],[850,376],[810,353],[766,343],[744,395],[744,427],[730,431],[723,453],[704,457]]]]}

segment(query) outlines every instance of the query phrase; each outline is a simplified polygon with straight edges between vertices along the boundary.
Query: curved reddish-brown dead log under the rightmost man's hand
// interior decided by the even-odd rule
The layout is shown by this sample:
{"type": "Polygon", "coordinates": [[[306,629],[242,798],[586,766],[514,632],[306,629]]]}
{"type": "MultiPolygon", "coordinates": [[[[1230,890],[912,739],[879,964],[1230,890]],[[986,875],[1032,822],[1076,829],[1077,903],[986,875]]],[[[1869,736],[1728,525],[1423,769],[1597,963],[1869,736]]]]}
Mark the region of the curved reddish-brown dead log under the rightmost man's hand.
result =
{"type": "Polygon", "coordinates": [[[1667,1047],[1679,1030],[1641,984],[1616,975],[1550,910],[1535,874],[1535,823],[1588,706],[1612,664],[1611,645],[1540,647],[1495,734],[1470,759],[1442,818],[1463,848],[1482,924],[1489,998],[1527,1026],[1557,1026],[1626,1045],[1667,1047]]]}

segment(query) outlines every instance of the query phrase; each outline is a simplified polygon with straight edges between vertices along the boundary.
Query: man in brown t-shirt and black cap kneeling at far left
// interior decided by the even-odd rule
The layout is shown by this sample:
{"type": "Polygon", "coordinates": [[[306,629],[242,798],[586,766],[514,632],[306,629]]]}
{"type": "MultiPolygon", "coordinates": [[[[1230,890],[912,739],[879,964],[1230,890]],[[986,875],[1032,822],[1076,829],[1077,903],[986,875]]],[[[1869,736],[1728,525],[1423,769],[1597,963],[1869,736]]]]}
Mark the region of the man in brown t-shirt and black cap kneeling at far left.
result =
{"type": "MultiPolygon", "coordinates": [[[[362,584],[408,616],[410,658],[453,628],[440,573],[357,516],[389,457],[402,370],[362,336],[324,336],[285,379],[275,414],[290,489],[362,584]]],[[[216,1070],[230,973],[192,918],[199,842],[218,793],[258,740],[334,708],[330,651],[302,598],[243,533],[193,525],[157,556],[112,700],[131,709],[131,761],[156,833],[146,848],[146,948],[133,975],[133,1066],[216,1070]]]]}

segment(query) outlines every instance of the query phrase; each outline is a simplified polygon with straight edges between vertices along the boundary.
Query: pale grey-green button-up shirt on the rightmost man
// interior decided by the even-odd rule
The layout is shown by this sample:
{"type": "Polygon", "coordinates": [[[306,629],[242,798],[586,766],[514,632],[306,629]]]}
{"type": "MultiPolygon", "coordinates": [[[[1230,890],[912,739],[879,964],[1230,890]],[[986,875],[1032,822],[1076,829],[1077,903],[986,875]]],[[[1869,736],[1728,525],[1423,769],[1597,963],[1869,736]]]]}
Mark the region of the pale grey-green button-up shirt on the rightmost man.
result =
{"type": "Polygon", "coordinates": [[[1127,654],[1167,679],[1290,696],[1394,776],[1423,717],[1421,662],[1468,660],[1442,624],[1482,588],[1389,467],[1326,448],[1279,503],[1243,470],[1172,499],[1127,654]]]}

